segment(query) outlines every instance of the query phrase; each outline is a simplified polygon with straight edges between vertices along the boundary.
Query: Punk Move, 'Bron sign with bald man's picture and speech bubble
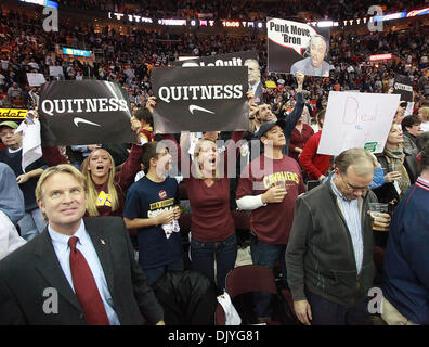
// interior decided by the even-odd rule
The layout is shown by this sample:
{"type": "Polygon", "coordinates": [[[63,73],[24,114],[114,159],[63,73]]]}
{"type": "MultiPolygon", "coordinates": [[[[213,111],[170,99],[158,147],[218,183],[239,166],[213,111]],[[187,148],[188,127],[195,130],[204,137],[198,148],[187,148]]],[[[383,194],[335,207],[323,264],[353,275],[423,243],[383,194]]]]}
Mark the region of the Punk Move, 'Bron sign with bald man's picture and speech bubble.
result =
{"type": "Polygon", "coordinates": [[[301,72],[307,76],[329,77],[329,29],[270,18],[268,30],[268,69],[270,73],[301,72]]]}

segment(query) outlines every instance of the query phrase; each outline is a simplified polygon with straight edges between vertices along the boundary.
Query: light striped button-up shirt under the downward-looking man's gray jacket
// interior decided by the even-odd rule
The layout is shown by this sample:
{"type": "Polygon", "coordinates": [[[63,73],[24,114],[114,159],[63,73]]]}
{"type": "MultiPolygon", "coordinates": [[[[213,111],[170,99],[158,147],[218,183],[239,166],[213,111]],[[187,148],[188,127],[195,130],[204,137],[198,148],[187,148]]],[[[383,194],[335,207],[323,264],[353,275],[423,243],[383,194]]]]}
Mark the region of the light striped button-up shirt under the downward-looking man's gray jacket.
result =
{"type": "Polygon", "coordinates": [[[362,224],[361,224],[361,213],[359,209],[359,198],[348,200],[344,197],[338,188],[334,183],[334,178],[330,179],[333,191],[337,196],[338,207],[340,208],[342,216],[346,219],[347,227],[353,244],[354,259],[356,261],[358,273],[362,270],[363,261],[363,237],[362,237],[362,224]]]}

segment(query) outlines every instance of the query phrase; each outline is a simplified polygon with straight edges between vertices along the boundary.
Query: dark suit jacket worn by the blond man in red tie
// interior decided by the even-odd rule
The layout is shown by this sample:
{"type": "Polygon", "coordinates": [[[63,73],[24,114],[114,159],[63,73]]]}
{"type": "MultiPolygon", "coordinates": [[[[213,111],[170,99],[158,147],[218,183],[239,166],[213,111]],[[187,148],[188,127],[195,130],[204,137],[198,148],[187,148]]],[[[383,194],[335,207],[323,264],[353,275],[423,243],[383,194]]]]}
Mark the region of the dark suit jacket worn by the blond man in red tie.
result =
{"type": "MultiPolygon", "coordinates": [[[[120,324],[142,324],[142,314],[152,323],[162,320],[162,307],[134,259],[122,218],[90,217],[83,221],[120,324]]],[[[86,324],[48,229],[0,261],[0,324],[86,324]],[[55,303],[55,297],[44,292],[47,288],[57,292],[57,313],[46,313],[50,301],[55,303]]]]}

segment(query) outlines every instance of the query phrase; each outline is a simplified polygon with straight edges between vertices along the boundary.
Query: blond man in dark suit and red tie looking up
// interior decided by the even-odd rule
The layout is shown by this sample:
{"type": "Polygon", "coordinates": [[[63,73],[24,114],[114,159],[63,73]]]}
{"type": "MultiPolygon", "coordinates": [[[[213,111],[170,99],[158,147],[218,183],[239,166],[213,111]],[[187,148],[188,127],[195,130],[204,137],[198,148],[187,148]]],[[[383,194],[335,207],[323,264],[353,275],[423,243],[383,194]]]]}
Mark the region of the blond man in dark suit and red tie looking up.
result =
{"type": "Polygon", "coordinates": [[[82,218],[84,177],[47,169],[36,188],[46,230],[0,261],[0,324],[164,324],[122,218],[82,218]]]}

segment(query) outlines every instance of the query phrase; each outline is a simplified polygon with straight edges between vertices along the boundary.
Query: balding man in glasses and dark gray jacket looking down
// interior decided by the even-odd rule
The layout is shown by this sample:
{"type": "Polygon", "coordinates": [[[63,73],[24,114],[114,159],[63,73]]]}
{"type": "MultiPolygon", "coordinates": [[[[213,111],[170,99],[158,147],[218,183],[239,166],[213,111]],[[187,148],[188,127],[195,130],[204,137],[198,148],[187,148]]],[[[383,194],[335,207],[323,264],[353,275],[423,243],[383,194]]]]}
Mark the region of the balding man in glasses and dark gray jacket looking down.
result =
{"type": "MultiPolygon", "coordinates": [[[[287,281],[298,319],[313,324],[370,324],[367,292],[373,284],[373,227],[368,191],[375,162],[351,149],[335,162],[322,185],[297,200],[286,250],[287,281]]],[[[387,227],[382,214],[374,224],[387,227]]]]}

